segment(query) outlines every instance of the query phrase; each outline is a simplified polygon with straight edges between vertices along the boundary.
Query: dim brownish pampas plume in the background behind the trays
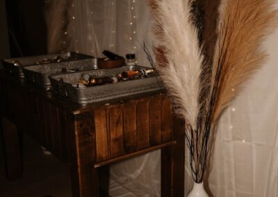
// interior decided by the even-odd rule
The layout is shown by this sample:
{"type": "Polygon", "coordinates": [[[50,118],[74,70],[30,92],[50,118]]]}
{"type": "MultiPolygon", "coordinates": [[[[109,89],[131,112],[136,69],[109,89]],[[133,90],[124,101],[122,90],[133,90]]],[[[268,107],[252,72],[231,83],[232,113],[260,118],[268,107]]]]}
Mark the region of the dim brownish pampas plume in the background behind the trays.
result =
{"type": "Polygon", "coordinates": [[[67,26],[67,0],[47,1],[45,20],[47,24],[47,52],[59,53],[65,51],[68,36],[65,34],[67,26]]]}

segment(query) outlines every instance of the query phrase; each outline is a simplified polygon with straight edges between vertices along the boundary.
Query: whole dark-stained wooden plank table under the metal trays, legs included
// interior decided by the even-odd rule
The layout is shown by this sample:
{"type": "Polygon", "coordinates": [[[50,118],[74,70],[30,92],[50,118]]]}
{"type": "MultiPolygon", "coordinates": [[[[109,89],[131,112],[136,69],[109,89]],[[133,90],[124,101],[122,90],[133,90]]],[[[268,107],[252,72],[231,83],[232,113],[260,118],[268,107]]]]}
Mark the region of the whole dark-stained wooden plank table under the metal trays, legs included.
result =
{"type": "Polygon", "coordinates": [[[73,196],[99,196],[99,166],[156,149],[161,149],[161,196],[184,196],[183,123],[172,115],[165,94],[76,105],[0,71],[0,98],[8,178],[22,175],[24,132],[70,164],[73,196]]]}

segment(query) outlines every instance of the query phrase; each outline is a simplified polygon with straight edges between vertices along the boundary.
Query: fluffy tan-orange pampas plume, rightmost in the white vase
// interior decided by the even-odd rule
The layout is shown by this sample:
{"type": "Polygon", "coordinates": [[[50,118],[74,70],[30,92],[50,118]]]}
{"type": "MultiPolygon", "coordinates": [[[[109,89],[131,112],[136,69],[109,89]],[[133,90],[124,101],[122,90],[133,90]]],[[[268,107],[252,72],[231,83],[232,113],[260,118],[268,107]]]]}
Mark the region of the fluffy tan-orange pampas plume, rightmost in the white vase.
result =
{"type": "Polygon", "coordinates": [[[222,9],[213,58],[212,85],[219,79],[213,121],[238,93],[241,83],[261,67],[265,53],[259,46],[277,17],[268,0],[227,0],[222,9]]]}

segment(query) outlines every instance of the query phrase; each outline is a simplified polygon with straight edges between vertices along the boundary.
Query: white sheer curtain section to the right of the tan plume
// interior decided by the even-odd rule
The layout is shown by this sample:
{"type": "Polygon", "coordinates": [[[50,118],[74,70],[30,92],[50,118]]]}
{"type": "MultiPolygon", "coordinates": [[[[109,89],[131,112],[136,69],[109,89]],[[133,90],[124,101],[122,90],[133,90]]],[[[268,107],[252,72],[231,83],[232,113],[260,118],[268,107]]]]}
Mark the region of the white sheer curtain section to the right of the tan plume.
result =
{"type": "Polygon", "coordinates": [[[224,112],[211,157],[214,196],[278,196],[278,31],[269,58],[224,112]]]}

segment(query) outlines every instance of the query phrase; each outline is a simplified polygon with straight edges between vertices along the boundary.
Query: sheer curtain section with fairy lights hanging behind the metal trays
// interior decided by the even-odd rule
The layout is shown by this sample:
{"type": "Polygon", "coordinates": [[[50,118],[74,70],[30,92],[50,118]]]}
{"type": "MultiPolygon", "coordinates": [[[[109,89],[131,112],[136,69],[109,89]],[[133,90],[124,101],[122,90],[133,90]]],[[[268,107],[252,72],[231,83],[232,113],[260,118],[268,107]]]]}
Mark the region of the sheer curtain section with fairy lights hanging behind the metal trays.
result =
{"type": "MultiPolygon", "coordinates": [[[[149,46],[151,15],[142,0],[72,0],[70,49],[102,56],[110,50],[124,56],[136,53],[139,65],[149,65],[142,50],[149,46]]],[[[150,50],[151,51],[151,50],[150,50]]]]}

